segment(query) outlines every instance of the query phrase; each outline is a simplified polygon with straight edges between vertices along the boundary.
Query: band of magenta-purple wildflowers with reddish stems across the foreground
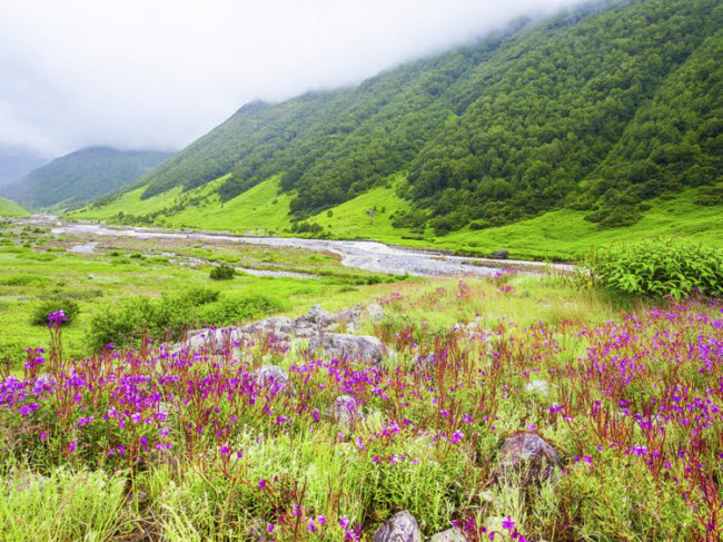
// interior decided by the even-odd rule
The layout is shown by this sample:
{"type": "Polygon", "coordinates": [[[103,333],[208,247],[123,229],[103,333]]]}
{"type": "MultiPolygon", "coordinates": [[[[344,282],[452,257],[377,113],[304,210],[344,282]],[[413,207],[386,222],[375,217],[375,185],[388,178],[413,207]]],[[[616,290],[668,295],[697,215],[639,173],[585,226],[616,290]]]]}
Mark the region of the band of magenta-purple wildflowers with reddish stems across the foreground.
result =
{"type": "MultiPolygon", "coordinates": [[[[468,295],[464,285],[433,292],[424,304],[465,303],[468,295]]],[[[390,296],[387,303],[418,300],[390,296]]],[[[228,469],[231,459],[245,460],[237,438],[242,431],[250,428],[259,442],[327,432],[375,469],[415,467],[424,455],[400,452],[405,443],[429,435],[444,453],[473,454],[473,443],[505,422],[501,405],[528,398],[526,385],[546,378],[554,396],[523,427],[544,433],[567,425],[587,435],[572,461],[588,475],[595,475],[603,454],[640,462],[655,476],[668,473],[681,493],[703,495],[701,520],[709,524],[710,514],[723,510],[720,492],[710,487],[723,459],[723,318],[717,305],[704,308],[681,304],[598,326],[501,322],[494,333],[450,332],[418,345],[429,352],[427,364],[412,349],[415,357],[384,364],[284,351],[288,382],[259,378],[263,348],[251,344],[142,353],[109,345],[98,356],[61,359],[44,373],[43,353],[31,349],[24,377],[0,382],[0,436],[11,443],[3,453],[11,454],[33,449],[39,457],[42,451],[67,462],[97,464],[103,457],[130,469],[171,455],[202,455],[228,469]],[[559,329],[584,344],[582,355],[561,346],[559,329]],[[361,418],[365,408],[377,413],[378,423],[361,424],[353,435],[333,427],[328,408],[339,395],[353,397],[347,406],[353,417],[361,418]]],[[[57,326],[62,314],[53,315],[57,326]]],[[[398,346],[414,333],[396,335],[398,346]]],[[[259,481],[258,489],[266,483],[259,481]]],[[[326,529],[326,513],[313,511],[307,531],[326,529]]],[[[347,540],[357,540],[358,528],[340,521],[347,540]]],[[[511,522],[505,530],[524,541],[511,522]]],[[[279,525],[269,523],[269,532],[284,529],[279,525]]]]}

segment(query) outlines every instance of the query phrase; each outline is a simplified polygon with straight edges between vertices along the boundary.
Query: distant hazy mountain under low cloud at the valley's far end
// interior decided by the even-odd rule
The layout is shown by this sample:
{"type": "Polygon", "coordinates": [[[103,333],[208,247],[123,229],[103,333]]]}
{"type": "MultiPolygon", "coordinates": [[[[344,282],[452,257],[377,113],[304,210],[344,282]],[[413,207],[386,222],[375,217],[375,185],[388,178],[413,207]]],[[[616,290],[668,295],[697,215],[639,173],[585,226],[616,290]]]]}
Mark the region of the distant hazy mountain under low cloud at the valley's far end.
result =
{"type": "Polygon", "coordinates": [[[23,205],[69,207],[117,191],[172,156],[156,150],[88,147],[34,169],[0,194],[23,205]]]}

